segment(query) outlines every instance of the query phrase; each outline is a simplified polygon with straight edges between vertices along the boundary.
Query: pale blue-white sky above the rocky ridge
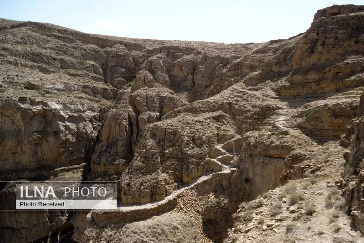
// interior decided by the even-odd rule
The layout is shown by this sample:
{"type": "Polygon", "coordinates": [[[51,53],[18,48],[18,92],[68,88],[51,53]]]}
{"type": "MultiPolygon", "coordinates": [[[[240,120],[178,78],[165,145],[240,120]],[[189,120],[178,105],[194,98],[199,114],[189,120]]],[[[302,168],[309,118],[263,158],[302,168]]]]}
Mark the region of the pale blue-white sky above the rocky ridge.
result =
{"type": "Polygon", "coordinates": [[[0,0],[0,17],[129,38],[259,43],[305,32],[333,4],[364,0],[0,0]]]}

